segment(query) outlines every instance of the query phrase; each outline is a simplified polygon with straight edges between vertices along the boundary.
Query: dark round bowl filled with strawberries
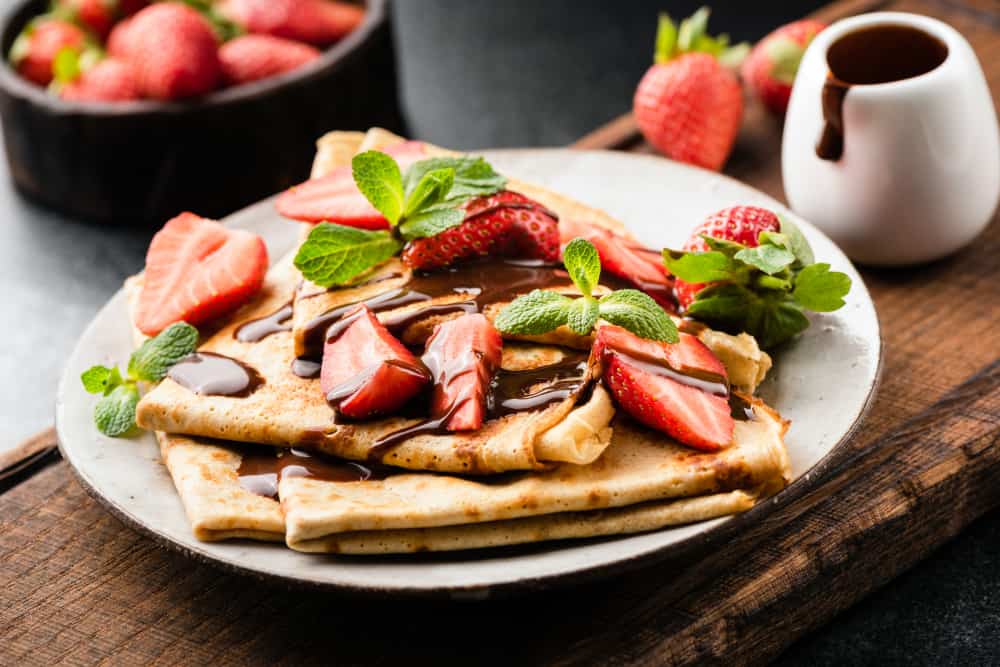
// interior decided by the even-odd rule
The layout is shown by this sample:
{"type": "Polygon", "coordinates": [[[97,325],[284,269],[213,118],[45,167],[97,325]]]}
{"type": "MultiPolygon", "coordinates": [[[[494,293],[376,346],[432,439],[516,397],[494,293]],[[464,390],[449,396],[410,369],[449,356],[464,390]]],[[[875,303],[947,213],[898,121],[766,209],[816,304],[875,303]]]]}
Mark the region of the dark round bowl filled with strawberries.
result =
{"type": "Polygon", "coordinates": [[[32,0],[2,26],[14,183],[91,222],[221,216],[305,179],[331,122],[402,124],[387,0],[32,0]]]}

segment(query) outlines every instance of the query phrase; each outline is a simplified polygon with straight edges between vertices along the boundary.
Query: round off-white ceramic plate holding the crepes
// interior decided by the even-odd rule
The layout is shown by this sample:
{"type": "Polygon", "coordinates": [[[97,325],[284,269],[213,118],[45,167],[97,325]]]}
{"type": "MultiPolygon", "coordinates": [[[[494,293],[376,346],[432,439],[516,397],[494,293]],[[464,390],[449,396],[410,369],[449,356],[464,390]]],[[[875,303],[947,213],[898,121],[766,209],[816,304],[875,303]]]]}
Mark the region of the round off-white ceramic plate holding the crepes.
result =
{"type": "MultiPolygon", "coordinates": [[[[796,220],[816,257],[854,280],[847,306],[813,318],[810,329],[776,355],[761,395],[791,419],[787,444],[794,487],[848,435],[864,414],[878,379],[878,320],[864,283],[848,259],[815,227],[770,197],[718,174],[651,156],[561,149],[488,151],[503,173],[549,186],[624,221],[652,247],[679,247],[695,223],[725,206],[757,204],[796,220]]],[[[264,201],[227,224],[267,241],[271,257],[292,248],[296,228],[264,201]]],[[[641,535],[461,553],[395,557],[335,557],[296,553],[250,541],[199,542],[152,435],[102,436],[93,426],[94,398],[80,373],[96,363],[124,365],[132,344],[125,297],[119,292],[80,337],[60,383],[56,423],[63,456],[84,487],[130,526],[162,544],[228,569],[289,583],[357,592],[485,596],[500,589],[536,588],[613,573],[678,553],[692,538],[718,534],[732,518],[641,535]]],[[[755,521],[787,497],[786,490],[741,521],[755,521]]]]}

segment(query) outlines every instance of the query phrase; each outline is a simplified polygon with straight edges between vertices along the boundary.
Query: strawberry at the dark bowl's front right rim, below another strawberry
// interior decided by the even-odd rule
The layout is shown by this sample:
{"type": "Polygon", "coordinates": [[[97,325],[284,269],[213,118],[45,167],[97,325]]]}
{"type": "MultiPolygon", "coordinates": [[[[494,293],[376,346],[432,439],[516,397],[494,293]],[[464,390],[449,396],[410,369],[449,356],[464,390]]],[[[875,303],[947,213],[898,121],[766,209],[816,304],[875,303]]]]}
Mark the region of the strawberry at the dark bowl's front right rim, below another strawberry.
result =
{"type": "Polygon", "coordinates": [[[222,75],[232,84],[289,72],[319,55],[319,50],[308,44],[271,35],[243,35],[219,49],[222,75]]]}

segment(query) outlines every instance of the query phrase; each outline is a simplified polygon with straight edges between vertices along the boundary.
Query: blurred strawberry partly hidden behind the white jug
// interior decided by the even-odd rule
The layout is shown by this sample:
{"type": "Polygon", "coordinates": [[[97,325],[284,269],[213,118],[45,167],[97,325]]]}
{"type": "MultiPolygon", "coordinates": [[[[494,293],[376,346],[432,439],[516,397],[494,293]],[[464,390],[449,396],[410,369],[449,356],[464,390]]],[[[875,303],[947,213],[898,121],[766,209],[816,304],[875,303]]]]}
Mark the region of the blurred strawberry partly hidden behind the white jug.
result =
{"type": "Polygon", "coordinates": [[[813,19],[783,25],[758,42],[744,61],[743,80],[775,115],[785,115],[802,54],[825,27],[813,19]]]}

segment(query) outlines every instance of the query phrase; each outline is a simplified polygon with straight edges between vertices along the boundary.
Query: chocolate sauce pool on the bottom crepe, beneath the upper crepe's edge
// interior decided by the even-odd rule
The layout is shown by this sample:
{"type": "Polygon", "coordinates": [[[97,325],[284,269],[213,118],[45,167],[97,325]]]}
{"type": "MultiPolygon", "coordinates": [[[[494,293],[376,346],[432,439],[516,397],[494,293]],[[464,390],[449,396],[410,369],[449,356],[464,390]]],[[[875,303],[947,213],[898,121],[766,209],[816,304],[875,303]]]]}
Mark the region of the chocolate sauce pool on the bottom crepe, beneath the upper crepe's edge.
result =
{"type": "Polygon", "coordinates": [[[328,482],[363,482],[385,479],[388,468],[342,461],[302,449],[240,447],[240,486],[265,498],[278,499],[278,482],[284,477],[308,477],[328,482]]]}

